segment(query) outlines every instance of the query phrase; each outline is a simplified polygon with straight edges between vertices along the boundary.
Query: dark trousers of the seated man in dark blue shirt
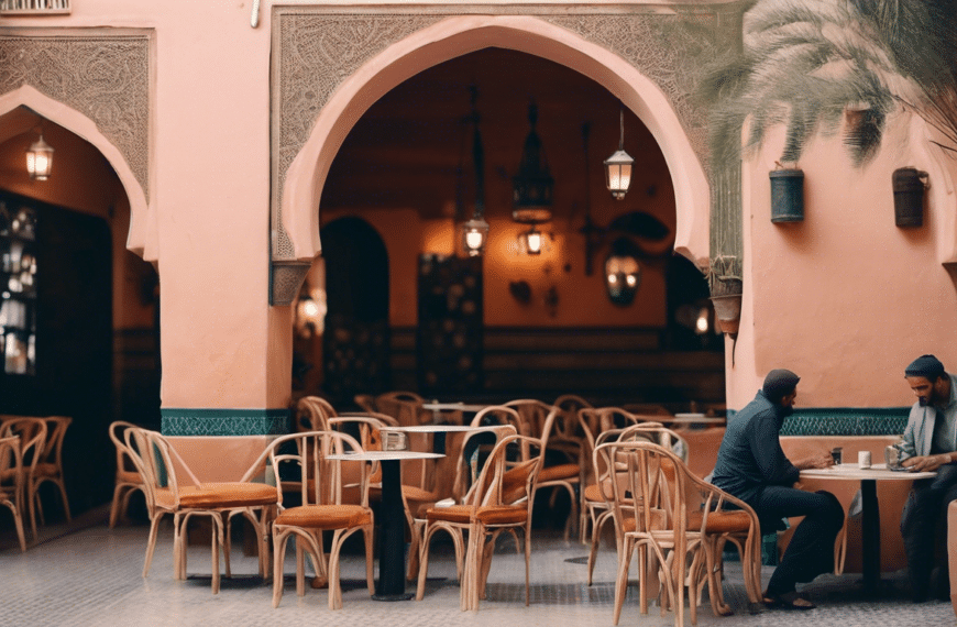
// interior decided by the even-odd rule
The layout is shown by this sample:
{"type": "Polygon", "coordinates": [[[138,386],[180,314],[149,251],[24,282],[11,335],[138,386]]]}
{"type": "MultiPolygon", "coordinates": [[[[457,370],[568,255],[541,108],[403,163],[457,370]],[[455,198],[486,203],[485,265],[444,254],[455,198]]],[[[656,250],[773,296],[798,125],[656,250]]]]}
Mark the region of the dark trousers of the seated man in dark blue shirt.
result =
{"type": "Polygon", "coordinates": [[[833,494],[773,485],[750,505],[761,520],[804,517],[768,582],[769,595],[793,592],[795,584],[834,570],[834,539],[844,526],[844,507],[833,494]]]}

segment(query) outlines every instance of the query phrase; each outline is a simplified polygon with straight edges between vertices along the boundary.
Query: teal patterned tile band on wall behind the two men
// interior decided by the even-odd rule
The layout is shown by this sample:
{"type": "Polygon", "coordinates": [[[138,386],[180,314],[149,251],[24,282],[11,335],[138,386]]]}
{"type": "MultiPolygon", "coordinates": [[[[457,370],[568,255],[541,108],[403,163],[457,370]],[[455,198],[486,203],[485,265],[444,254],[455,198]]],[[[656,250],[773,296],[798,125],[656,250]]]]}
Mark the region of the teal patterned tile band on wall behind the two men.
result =
{"type": "MultiPolygon", "coordinates": [[[[782,436],[899,436],[910,407],[814,407],[794,409],[784,419],[782,436]]],[[[728,410],[728,419],[737,411],[728,410]]]]}

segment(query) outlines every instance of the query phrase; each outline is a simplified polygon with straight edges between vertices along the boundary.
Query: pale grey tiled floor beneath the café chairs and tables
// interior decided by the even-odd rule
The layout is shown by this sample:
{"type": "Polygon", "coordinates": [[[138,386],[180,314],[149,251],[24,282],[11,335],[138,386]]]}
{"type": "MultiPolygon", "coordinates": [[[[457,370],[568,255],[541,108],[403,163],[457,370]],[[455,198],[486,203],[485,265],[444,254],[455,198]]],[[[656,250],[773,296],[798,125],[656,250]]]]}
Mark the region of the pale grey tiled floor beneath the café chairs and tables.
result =
{"type": "MultiPolygon", "coordinates": [[[[101,514],[101,513],[100,513],[101,514]]],[[[531,604],[526,607],[525,566],[514,546],[504,540],[493,561],[488,598],[475,613],[459,610],[459,586],[448,547],[437,547],[430,561],[429,585],[421,602],[383,603],[370,600],[361,559],[350,557],[343,564],[343,608],[330,610],[326,590],[307,588],[297,597],[292,581],[278,608],[271,604],[268,583],[254,576],[255,558],[242,556],[234,547],[233,580],[222,590],[209,590],[210,553],[206,546],[189,549],[185,582],[172,578],[172,530],[161,529],[156,556],[147,579],[142,578],[147,528],[143,525],[110,530],[95,514],[86,528],[47,528],[41,542],[21,553],[13,543],[0,541],[0,626],[350,626],[350,627],[481,627],[507,626],[610,626],[615,558],[604,548],[595,571],[595,584],[584,585],[586,548],[564,543],[552,534],[539,532],[534,541],[531,604]],[[195,573],[195,574],[194,574],[195,573]],[[237,574],[238,573],[238,574],[237,574]],[[205,576],[204,576],[205,575],[205,576]]],[[[2,524],[6,525],[6,521],[2,524]]],[[[6,528],[4,528],[6,530],[6,528]]],[[[289,552],[286,573],[293,573],[289,552]]],[[[771,570],[765,569],[763,576],[771,570]]],[[[634,574],[634,571],[632,571],[634,574]]],[[[411,586],[410,586],[411,590],[411,586]]],[[[806,587],[818,608],[811,612],[748,612],[737,563],[727,566],[725,595],[735,607],[732,617],[715,617],[705,602],[698,609],[702,627],[898,627],[957,625],[949,603],[913,605],[906,600],[900,576],[890,578],[887,593],[864,602],[856,594],[856,576],[823,576],[806,587]]],[[[622,626],[673,625],[671,614],[660,616],[637,609],[637,592],[629,594],[622,626]]],[[[690,625],[690,617],[685,617],[690,625]]]]}

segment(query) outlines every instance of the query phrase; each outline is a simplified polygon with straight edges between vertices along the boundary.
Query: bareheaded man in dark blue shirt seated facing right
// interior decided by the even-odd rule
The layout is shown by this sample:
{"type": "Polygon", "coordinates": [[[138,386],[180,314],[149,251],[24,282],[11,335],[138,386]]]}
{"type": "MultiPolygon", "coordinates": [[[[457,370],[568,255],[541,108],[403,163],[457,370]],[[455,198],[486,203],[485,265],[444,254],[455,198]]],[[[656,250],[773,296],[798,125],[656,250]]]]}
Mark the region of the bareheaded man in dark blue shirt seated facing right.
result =
{"type": "Polygon", "coordinates": [[[834,568],[834,539],[844,526],[844,507],[833,494],[805,492],[798,484],[801,470],[834,463],[828,452],[792,463],[781,449],[779,432],[793,413],[799,381],[789,370],[768,373],[755,399],[728,421],[712,483],[751,506],[761,534],[783,529],[783,518],[804,516],[768,582],[765,603],[812,609],[814,604],[800,597],[795,585],[834,568]]]}

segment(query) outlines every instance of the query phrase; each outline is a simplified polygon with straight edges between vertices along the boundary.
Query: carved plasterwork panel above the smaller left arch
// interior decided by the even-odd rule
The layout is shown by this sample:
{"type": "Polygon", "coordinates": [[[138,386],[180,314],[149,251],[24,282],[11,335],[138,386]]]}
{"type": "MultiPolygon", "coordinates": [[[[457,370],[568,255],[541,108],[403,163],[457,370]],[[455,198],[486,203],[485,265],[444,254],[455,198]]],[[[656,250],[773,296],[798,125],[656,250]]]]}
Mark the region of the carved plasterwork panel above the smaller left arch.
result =
{"type": "Polygon", "coordinates": [[[127,160],[146,198],[150,33],[79,29],[0,33],[0,94],[30,85],[87,116],[127,160]]]}

